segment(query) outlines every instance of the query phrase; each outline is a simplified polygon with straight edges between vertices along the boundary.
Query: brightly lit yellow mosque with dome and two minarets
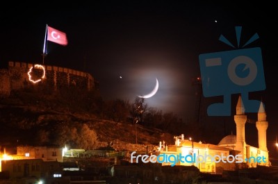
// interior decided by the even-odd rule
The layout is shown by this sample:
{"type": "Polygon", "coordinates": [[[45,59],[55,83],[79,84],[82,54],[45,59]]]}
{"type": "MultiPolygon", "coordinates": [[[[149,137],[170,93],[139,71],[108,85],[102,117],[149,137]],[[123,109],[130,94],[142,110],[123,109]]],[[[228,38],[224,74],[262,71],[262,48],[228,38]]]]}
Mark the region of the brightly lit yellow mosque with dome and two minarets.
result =
{"type": "MultiPolygon", "coordinates": [[[[195,165],[200,172],[210,172],[222,174],[223,170],[235,170],[237,168],[247,168],[261,166],[270,166],[268,148],[266,144],[266,131],[268,122],[266,121],[266,113],[263,103],[259,107],[256,128],[258,130],[259,148],[253,147],[245,142],[245,123],[247,115],[241,96],[238,98],[236,105],[236,115],[234,115],[236,123],[236,135],[227,135],[222,138],[218,145],[204,144],[202,142],[193,142],[193,140],[184,139],[184,135],[175,136],[174,145],[166,145],[163,142],[158,147],[160,155],[179,156],[182,158],[172,157],[172,161],[162,162],[162,165],[195,165]],[[208,156],[209,155],[209,156],[208,156]],[[221,157],[220,157],[221,156],[221,157]],[[204,159],[206,157],[206,159],[204,159]],[[190,158],[194,162],[190,162],[190,158]],[[176,159],[176,162],[174,162],[176,159]],[[185,160],[187,159],[187,161],[185,160]],[[204,161],[202,161],[204,160],[204,161]],[[236,162],[238,161],[238,162],[236,162]]],[[[161,156],[161,158],[163,158],[161,156]]]]}

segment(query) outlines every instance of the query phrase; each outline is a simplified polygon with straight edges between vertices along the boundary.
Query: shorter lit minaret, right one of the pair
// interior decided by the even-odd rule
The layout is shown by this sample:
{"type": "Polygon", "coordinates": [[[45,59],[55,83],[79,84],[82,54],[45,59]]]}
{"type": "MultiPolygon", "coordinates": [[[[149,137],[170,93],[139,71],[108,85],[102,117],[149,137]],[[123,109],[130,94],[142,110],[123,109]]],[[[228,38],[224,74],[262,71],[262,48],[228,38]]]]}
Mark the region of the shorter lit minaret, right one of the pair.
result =
{"type": "Polygon", "coordinates": [[[263,102],[261,102],[259,108],[256,128],[258,129],[259,149],[268,151],[268,148],[266,147],[266,130],[268,129],[268,122],[266,121],[266,113],[263,102]]]}

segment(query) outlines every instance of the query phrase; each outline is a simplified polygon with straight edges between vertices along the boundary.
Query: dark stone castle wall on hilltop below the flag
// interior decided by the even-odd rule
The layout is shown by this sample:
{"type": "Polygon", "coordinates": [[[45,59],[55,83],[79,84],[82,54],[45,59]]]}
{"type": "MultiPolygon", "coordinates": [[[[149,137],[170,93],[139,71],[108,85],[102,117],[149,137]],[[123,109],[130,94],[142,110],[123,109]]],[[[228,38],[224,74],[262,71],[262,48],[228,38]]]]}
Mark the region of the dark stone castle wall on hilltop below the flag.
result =
{"type": "Polygon", "coordinates": [[[33,67],[31,74],[33,74],[34,78],[40,78],[43,70],[35,69],[35,64],[33,63],[10,61],[8,62],[8,69],[0,69],[0,97],[8,97],[12,90],[20,90],[24,87],[38,85],[38,83],[44,83],[54,90],[70,85],[74,85],[83,90],[92,90],[95,88],[95,80],[91,74],[52,65],[43,65],[45,77],[38,83],[32,83],[28,77],[28,72],[31,67],[33,67]]]}

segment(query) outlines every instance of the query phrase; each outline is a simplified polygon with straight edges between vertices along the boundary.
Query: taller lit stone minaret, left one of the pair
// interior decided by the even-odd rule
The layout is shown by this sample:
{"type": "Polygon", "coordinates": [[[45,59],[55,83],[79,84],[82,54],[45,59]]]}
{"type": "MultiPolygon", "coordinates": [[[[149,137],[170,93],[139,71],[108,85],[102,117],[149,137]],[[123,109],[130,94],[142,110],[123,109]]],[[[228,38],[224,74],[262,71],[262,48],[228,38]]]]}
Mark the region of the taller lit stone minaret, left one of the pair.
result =
{"type": "Polygon", "coordinates": [[[236,105],[236,115],[234,115],[234,121],[236,122],[236,147],[237,151],[240,151],[242,158],[246,158],[246,142],[245,142],[245,122],[247,116],[245,115],[245,108],[241,95],[238,97],[238,104],[236,105]]]}

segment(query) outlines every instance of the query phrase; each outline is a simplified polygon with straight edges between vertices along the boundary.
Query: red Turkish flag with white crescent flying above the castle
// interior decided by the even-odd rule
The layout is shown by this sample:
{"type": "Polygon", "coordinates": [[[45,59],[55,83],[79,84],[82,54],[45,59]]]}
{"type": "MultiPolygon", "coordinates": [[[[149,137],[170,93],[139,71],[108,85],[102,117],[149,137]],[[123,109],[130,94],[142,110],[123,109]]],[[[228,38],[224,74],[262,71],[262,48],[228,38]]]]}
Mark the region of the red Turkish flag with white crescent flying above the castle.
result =
{"type": "Polygon", "coordinates": [[[49,26],[47,26],[47,40],[57,44],[67,45],[67,35],[49,26]]]}

